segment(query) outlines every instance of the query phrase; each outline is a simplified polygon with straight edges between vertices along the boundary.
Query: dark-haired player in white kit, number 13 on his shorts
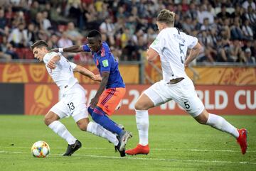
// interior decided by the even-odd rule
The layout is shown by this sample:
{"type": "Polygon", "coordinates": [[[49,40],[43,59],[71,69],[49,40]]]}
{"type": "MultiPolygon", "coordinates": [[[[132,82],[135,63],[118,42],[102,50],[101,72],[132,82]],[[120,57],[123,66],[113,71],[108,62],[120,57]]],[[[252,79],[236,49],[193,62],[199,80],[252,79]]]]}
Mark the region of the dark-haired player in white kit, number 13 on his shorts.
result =
{"type": "Polygon", "coordinates": [[[33,55],[36,59],[46,64],[50,77],[53,78],[53,81],[60,89],[61,99],[48,111],[44,122],[53,132],[68,142],[68,148],[63,156],[72,155],[82,146],[80,141],[59,121],[60,118],[69,116],[73,116],[80,130],[106,138],[114,145],[118,145],[119,140],[116,135],[99,124],[89,121],[85,104],[85,89],[78,84],[73,72],[80,72],[80,74],[95,81],[101,80],[100,75],[94,75],[85,67],[69,62],[61,53],[49,53],[48,45],[44,40],[38,40],[31,45],[31,50],[33,50],[33,55]]]}

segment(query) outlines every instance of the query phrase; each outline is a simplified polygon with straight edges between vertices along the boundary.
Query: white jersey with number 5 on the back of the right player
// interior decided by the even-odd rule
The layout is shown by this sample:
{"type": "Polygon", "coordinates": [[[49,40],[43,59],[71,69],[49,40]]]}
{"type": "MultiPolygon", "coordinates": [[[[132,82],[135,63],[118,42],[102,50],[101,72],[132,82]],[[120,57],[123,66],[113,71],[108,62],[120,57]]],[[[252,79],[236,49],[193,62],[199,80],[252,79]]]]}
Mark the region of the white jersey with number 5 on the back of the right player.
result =
{"type": "Polygon", "coordinates": [[[160,55],[164,82],[178,77],[187,77],[184,62],[188,48],[193,48],[198,39],[178,31],[164,28],[149,46],[160,55]]]}

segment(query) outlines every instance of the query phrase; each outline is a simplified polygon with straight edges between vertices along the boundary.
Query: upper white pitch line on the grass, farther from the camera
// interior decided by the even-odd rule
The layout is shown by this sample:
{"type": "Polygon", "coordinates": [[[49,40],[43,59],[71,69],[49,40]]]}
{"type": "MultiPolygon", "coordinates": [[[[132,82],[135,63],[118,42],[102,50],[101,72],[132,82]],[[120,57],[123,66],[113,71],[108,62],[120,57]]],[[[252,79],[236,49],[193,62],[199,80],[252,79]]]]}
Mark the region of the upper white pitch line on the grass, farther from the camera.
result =
{"type": "MultiPolygon", "coordinates": [[[[0,148],[30,148],[21,146],[0,146],[0,148]]],[[[66,148],[54,148],[54,149],[66,149],[66,148]]],[[[110,148],[81,148],[84,150],[107,150],[110,148]]],[[[207,150],[207,149],[176,149],[176,148],[151,148],[150,150],[171,150],[171,151],[194,151],[194,152],[230,152],[240,153],[240,150],[207,150]]],[[[255,150],[247,150],[247,153],[256,153],[255,150]]]]}

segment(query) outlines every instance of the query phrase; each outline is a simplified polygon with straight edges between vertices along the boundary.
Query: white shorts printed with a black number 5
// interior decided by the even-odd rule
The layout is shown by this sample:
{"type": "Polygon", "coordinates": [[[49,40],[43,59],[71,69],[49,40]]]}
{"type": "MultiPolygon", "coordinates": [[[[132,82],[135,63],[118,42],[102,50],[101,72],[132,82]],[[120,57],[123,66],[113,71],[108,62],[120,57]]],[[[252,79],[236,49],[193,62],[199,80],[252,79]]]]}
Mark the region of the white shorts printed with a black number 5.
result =
{"type": "Polygon", "coordinates": [[[193,117],[198,116],[204,109],[203,102],[196,94],[193,82],[188,77],[176,84],[166,84],[164,80],[156,82],[145,90],[155,106],[174,100],[193,117]]]}

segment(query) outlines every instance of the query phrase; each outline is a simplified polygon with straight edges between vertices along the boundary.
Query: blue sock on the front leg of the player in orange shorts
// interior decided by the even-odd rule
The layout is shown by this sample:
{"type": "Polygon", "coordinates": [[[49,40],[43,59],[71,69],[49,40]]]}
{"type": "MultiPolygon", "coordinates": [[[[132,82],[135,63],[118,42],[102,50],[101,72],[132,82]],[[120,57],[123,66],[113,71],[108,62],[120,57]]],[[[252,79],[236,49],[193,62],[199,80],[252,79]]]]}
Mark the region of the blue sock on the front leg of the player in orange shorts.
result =
{"type": "MultiPolygon", "coordinates": [[[[89,108],[88,108],[89,109],[89,108]]],[[[111,131],[112,133],[117,133],[117,135],[122,135],[124,131],[119,128],[116,123],[114,123],[109,117],[105,115],[105,112],[98,106],[95,107],[94,111],[92,112],[92,119],[99,123],[103,128],[111,131]]]]}

